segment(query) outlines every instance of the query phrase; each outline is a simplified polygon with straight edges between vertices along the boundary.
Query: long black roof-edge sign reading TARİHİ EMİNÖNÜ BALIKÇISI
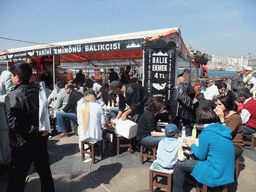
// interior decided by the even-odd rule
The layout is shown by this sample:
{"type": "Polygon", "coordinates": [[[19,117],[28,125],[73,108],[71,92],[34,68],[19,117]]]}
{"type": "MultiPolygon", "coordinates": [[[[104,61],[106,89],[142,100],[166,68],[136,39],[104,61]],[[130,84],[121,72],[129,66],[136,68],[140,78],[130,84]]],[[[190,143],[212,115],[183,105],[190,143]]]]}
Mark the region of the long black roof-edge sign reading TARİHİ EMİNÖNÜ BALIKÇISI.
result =
{"type": "Polygon", "coordinates": [[[102,52],[102,51],[117,51],[117,50],[129,50],[129,49],[142,49],[143,39],[130,39],[121,41],[106,41],[100,43],[87,43],[77,45],[66,46],[54,46],[43,49],[34,49],[29,51],[8,53],[0,55],[1,60],[18,61],[25,60],[29,57],[41,57],[48,55],[60,55],[60,54],[79,54],[86,52],[102,52]]]}

